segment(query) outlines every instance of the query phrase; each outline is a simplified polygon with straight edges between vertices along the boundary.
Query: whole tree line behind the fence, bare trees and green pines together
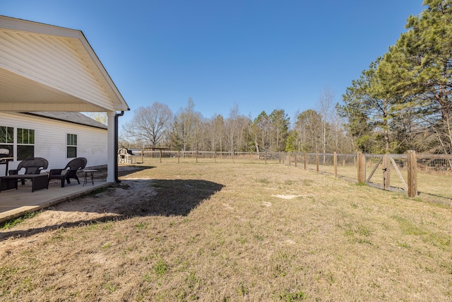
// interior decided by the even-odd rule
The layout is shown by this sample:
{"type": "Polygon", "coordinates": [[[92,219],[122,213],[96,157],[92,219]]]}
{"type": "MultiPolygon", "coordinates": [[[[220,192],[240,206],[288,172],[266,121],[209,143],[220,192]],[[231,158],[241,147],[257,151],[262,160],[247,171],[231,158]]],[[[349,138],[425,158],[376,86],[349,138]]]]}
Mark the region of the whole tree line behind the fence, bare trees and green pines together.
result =
{"type": "Polygon", "coordinates": [[[335,103],[328,87],[316,106],[295,112],[262,111],[206,118],[189,98],[173,113],[153,103],[124,124],[126,147],[179,151],[297,151],[319,153],[452,153],[452,0],[425,0],[405,33],[369,64],[335,103]]]}

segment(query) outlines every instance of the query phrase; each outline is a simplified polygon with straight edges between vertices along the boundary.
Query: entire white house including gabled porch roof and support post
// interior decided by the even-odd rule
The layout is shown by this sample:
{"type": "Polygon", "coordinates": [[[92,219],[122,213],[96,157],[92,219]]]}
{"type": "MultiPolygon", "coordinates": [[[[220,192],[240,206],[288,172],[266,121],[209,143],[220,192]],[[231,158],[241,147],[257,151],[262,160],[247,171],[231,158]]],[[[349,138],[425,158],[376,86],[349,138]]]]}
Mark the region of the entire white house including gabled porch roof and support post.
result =
{"type": "Polygon", "coordinates": [[[33,155],[46,158],[51,167],[61,166],[75,147],[77,156],[88,158],[90,166],[97,165],[104,153],[97,144],[103,144],[99,137],[105,137],[100,136],[105,129],[88,126],[88,130],[83,123],[52,120],[38,112],[107,112],[107,154],[103,156],[107,181],[114,182],[117,122],[125,110],[129,106],[81,30],[0,16],[0,131],[12,133],[14,156],[33,149],[33,155]],[[74,139],[76,146],[71,145],[74,139]]]}

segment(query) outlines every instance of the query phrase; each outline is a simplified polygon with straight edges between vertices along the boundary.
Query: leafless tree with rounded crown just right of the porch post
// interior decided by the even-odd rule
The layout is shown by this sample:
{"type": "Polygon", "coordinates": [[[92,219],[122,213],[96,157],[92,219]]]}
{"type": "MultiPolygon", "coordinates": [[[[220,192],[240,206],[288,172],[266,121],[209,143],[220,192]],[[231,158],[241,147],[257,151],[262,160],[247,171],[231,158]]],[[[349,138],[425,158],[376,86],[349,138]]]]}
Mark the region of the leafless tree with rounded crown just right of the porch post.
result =
{"type": "Polygon", "coordinates": [[[128,133],[135,141],[155,147],[165,141],[171,120],[172,111],[168,105],[155,102],[136,109],[132,120],[123,125],[123,133],[128,133]]]}

